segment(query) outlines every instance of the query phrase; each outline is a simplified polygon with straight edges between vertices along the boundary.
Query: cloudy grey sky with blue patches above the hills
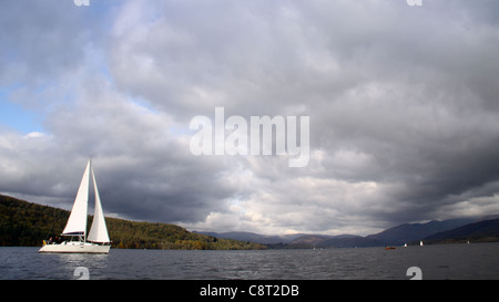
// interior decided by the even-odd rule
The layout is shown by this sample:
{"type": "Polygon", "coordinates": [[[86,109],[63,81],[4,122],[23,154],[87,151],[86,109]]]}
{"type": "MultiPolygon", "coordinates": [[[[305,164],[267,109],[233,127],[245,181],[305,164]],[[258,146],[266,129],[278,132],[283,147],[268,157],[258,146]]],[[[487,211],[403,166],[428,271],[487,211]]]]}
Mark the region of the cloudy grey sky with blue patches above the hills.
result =
{"type": "Polygon", "coordinates": [[[496,0],[8,0],[0,192],[190,230],[499,214],[496,0]],[[309,162],[195,156],[194,116],[309,116],[309,162]]]}

